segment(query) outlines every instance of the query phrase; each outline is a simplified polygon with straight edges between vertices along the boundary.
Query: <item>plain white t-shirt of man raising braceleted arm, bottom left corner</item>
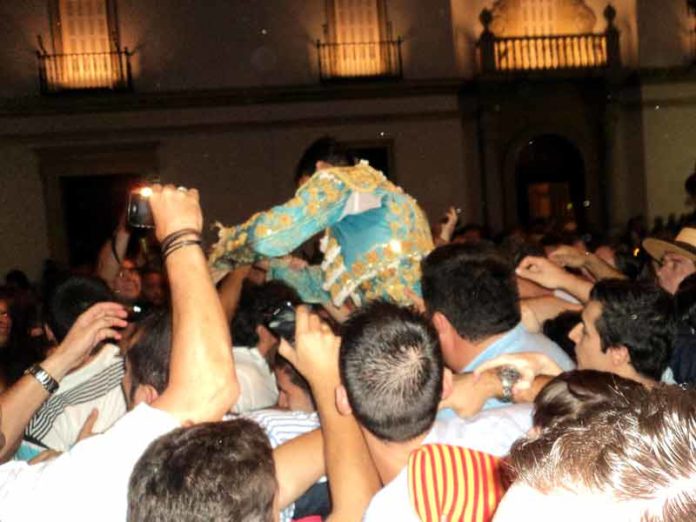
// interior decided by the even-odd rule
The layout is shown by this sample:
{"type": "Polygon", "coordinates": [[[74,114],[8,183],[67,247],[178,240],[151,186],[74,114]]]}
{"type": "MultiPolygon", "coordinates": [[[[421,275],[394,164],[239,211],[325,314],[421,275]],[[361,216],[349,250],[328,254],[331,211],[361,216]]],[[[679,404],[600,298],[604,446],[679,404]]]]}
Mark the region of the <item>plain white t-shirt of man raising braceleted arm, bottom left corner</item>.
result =
{"type": "Polygon", "coordinates": [[[49,462],[0,466],[0,520],[123,522],[133,467],[153,440],[177,427],[168,413],[140,404],[49,462]]]}

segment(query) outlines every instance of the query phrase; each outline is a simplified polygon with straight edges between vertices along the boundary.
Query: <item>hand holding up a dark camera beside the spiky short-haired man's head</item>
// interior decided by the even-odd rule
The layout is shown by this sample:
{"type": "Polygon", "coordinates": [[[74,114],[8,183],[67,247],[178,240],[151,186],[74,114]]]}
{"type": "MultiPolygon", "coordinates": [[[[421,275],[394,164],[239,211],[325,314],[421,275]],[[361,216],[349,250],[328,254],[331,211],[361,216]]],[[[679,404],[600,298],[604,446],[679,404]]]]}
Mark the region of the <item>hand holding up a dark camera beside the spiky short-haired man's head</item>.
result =
{"type": "Polygon", "coordinates": [[[279,350],[314,387],[338,380],[340,346],[341,338],[335,336],[318,315],[306,306],[299,306],[295,319],[295,348],[282,340],[279,350]]]}

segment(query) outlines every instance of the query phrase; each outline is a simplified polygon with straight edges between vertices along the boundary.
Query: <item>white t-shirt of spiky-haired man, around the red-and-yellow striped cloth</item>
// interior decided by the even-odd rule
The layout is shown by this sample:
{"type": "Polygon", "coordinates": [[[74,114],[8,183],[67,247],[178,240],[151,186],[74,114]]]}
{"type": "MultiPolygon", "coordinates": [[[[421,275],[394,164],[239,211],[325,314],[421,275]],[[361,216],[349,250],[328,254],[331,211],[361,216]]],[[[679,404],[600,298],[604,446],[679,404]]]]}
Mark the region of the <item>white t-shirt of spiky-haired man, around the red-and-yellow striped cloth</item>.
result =
{"type": "MultiPolygon", "coordinates": [[[[487,410],[469,419],[435,421],[422,444],[451,444],[502,457],[531,427],[532,406],[515,404],[487,410]]],[[[363,520],[420,522],[409,499],[406,467],[372,498],[363,520]]]]}

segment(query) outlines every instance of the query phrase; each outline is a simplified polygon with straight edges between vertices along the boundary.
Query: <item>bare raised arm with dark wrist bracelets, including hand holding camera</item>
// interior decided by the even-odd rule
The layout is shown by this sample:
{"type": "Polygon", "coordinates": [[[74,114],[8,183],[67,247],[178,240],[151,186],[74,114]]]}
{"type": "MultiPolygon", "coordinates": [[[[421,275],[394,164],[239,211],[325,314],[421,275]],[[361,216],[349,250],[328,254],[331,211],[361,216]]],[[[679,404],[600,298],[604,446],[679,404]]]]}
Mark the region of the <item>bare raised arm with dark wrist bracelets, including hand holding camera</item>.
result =
{"type": "Polygon", "coordinates": [[[200,239],[198,191],[155,185],[150,198],[162,243],[185,230],[166,256],[172,294],[172,354],[167,388],[152,404],[182,424],[220,420],[239,396],[229,328],[200,239]]]}

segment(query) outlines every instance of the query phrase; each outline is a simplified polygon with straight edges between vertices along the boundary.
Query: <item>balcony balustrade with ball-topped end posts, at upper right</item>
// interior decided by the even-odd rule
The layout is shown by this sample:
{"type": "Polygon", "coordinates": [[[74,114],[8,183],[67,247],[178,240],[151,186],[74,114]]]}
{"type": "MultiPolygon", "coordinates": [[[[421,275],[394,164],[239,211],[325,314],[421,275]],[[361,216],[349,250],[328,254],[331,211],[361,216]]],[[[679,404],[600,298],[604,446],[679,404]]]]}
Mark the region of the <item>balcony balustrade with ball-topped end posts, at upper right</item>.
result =
{"type": "Polygon", "coordinates": [[[492,14],[484,9],[480,20],[484,31],[478,42],[484,73],[595,69],[621,65],[619,32],[614,26],[616,11],[604,11],[603,33],[499,37],[490,30],[492,14]]]}

